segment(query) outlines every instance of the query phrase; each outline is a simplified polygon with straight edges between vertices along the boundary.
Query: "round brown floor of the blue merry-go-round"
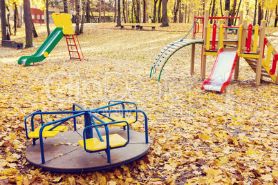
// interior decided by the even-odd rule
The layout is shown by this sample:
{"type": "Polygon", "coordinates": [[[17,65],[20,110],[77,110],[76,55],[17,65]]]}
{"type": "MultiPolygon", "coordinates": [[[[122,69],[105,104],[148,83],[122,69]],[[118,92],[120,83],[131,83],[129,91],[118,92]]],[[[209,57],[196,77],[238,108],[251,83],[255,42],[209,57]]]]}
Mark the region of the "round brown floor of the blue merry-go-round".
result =
{"type": "MultiPolygon", "coordinates": [[[[105,135],[104,128],[99,128],[100,135],[105,135]]],[[[109,128],[111,134],[118,133],[127,137],[127,132],[122,128],[109,128]]],[[[98,134],[94,133],[97,136],[98,134]]],[[[98,171],[106,168],[120,166],[139,159],[147,153],[151,142],[146,144],[145,134],[130,130],[130,141],[124,148],[111,150],[111,163],[107,163],[105,151],[87,153],[78,140],[83,139],[83,129],[59,133],[55,137],[44,139],[44,153],[46,163],[41,164],[41,150],[39,140],[36,145],[31,145],[26,150],[26,159],[33,166],[57,172],[82,172],[98,171]]]]}

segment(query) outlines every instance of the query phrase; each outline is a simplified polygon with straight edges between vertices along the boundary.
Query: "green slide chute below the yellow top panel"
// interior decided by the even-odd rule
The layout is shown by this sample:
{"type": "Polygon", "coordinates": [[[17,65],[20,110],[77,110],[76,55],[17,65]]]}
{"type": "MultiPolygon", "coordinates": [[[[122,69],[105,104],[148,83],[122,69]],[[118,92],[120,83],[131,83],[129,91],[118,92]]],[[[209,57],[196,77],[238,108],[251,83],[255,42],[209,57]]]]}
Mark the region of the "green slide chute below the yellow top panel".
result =
{"type": "Polygon", "coordinates": [[[39,47],[37,52],[31,56],[23,56],[18,60],[18,64],[24,64],[25,66],[30,66],[33,62],[43,61],[48,54],[55,48],[57,43],[64,37],[62,32],[63,28],[55,28],[53,32],[46,38],[43,44],[39,47]]]}

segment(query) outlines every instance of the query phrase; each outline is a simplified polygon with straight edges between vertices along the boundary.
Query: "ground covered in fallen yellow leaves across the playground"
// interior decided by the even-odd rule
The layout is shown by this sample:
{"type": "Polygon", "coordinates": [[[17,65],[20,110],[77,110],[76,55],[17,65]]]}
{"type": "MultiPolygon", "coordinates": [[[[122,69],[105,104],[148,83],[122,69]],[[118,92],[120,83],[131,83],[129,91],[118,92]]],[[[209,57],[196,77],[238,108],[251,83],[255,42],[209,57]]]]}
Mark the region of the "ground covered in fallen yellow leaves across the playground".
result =
{"type": "MultiPolygon", "coordinates": [[[[154,55],[190,26],[138,31],[102,23],[86,26],[78,37],[83,61],[69,59],[62,39],[44,61],[19,66],[17,59],[33,55],[46,39],[44,26],[36,26],[34,48],[0,47],[0,184],[278,184],[278,86],[270,79],[254,86],[243,59],[239,79],[222,94],[201,90],[201,46],[194,77],[191,47],[185,47],[169,59],[158,83],[158,74],[149,78],[154,55]],[[145,157],[91,173],[53,173],[26,161],[26,115],[69,110],[73,102],[97,108],[111,99],[134,101],[147,113],[152,144],[145,157]]],[[[22,32],[12,39],[24,41],[22,32]]],[[[268,37],[278,48],[276,38],[268,37]]],[[[213,64],[209,57],[207,76],[213,64]]]]}

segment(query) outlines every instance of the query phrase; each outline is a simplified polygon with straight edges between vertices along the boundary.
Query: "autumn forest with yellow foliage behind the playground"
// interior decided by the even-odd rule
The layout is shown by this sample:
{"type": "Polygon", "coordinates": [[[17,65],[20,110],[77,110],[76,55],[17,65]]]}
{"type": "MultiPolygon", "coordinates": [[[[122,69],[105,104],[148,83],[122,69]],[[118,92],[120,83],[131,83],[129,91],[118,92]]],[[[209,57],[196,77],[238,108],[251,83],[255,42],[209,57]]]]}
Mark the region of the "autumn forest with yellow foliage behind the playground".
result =
{"type": "MultiPolygon", "coordinates": [[[[117,22],[116,26],[120,26],[122,22],[162,23],[161,26],[169,26],[169,22],[189,23],[192,21],[192,17],[190,17],[192,10],[197,10],[198,16],[203,16],[205,9],[210,10],[212,17],[223,17],[225,11],[228,11],[231,17],[237,17],[239,11],[243,10],[245,19],[251,21],[253,25],[260,24],[260,21],[265,19],[266,26],[277,27],[277,2],[277,0],[1,0],[1,32],[2,40],[9,40],[10,35],[16,35],[17,28],[21,26],[22,22],[25,22],[26,28],[33,27],[33,30],[26,29],[26,47],[32,47],[33,36],[37,37],[37,33],[31,21],[30,6],[46,10],[48,35],[50,35],[49,6],[61,8],[63,9],[61,12],[66,13],[71,10],[72,16],[75,17],[75,33],[77,35],[83,32],[84,22],[95,21],[97,16],[99,22],[114,21],[117,22]],[[14,11],[13,17],[10,16],[11,10],[14,11]],[[14,30],[10,26],[11,18],[13,18],[13,25],[17,25],[14,26],[14,30]]],[[[231,19],[229,24],[235,26],[236,23],[236,19],[231,19]]]]}

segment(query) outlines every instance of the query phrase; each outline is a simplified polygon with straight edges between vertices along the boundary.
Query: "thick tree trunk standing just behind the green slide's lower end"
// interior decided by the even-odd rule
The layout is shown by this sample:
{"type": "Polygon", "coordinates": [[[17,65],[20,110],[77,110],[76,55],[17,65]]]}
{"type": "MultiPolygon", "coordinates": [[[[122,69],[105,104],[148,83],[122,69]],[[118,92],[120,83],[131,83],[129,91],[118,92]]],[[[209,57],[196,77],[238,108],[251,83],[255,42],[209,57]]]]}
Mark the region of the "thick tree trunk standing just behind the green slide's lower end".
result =
{"type": "Polygon", "coordinates": [[[30,0],[24,0],[24,23],[25,23],[25,35],[26,35],[26,48],[33,47],[33,30],[32,28],[32,16],[30,9],[30,0]]]}

